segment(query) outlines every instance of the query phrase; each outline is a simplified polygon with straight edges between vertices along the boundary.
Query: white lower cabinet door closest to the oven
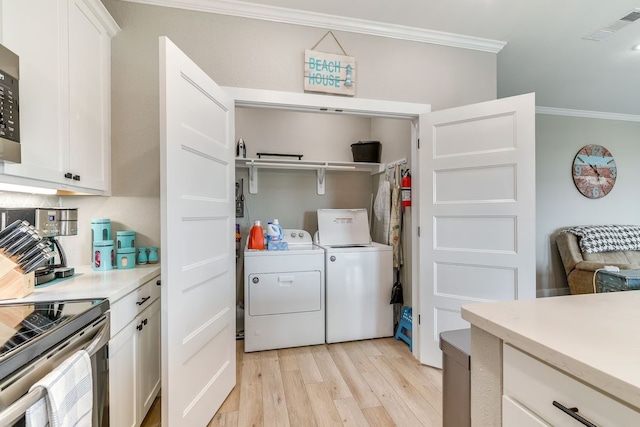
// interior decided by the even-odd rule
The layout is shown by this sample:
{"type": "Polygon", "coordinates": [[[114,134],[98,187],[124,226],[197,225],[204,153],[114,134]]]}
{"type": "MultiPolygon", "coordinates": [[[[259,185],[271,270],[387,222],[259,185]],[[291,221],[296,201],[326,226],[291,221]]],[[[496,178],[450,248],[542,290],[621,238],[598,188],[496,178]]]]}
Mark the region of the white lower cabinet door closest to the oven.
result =
{"type": "Polygon", "coordinates": [[[109,341],[109,418],[112,426],[136,427],[137,319],[109,341]]]}

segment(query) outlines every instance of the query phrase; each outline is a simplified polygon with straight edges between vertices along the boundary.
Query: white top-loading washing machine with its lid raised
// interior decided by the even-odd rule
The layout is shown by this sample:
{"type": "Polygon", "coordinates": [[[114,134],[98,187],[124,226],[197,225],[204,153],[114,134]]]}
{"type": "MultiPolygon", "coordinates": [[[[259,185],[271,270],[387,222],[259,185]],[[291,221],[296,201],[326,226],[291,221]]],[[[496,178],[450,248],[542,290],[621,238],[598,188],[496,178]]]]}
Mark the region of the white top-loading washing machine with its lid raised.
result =
{"type": "Polygon", "coordinates": [[[325,251],[326,341],[393,335],[393,252],[371,242],[366,209],[318,209],[325,251]]]}

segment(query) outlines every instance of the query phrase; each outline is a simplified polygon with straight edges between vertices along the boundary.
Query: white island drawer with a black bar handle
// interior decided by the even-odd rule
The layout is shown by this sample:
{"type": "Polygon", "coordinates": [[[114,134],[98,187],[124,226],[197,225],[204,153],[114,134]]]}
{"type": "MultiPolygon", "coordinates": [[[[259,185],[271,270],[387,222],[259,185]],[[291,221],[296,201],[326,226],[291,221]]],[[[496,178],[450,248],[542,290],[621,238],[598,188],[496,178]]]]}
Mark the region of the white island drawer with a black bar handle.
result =
{"type": "Polygon", "coordinates": [[[579,416],[598,427],[640,426],[640,412],[509,345],[503,363],[503,395],[551,425],[583,425],[555,407],[555,401],[578,408],[579,416]]]}

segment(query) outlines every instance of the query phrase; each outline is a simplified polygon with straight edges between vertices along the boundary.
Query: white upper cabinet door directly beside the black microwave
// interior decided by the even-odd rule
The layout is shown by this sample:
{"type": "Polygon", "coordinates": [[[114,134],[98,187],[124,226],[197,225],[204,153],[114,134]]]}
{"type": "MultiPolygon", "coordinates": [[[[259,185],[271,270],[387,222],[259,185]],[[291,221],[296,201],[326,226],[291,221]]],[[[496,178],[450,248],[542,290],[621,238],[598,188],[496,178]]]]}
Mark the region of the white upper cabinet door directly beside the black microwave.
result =
{"type": "Polygon", "coordinates": [[[22,163],[8,175],[63,182],[68,144],[65,0],[3,0],[2,43],[20,57],[22,163]]]}

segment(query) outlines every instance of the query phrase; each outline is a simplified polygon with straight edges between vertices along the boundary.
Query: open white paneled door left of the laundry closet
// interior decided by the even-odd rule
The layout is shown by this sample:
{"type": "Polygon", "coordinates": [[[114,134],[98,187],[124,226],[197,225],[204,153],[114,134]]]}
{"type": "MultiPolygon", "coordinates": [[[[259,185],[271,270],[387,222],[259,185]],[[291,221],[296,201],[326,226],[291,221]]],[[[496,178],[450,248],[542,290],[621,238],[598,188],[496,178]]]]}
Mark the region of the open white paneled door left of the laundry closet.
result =
{"type": "Polygon", "coordinates": [[[207,425],[235,385],[233,111],[161,37],[163,426],[207,425]]]}

